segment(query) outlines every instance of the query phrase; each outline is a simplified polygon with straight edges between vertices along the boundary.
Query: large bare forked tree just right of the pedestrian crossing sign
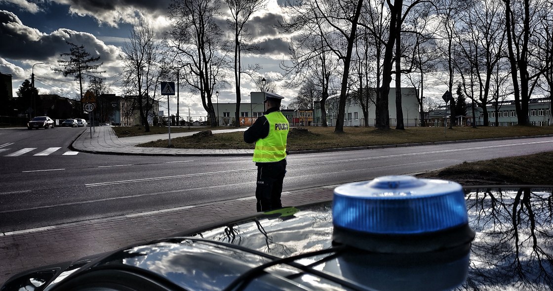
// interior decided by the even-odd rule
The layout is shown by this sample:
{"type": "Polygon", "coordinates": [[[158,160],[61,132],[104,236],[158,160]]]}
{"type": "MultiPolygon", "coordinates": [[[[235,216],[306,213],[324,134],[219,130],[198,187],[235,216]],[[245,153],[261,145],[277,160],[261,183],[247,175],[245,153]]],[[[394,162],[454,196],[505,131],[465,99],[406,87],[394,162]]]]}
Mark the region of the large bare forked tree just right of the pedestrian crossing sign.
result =
{"type": "Polygon", "coordinates": [[[172,0],[169,4],[171,45],[190,68],[183,81],[192,92],[200,94],[212,126],[217,124],[217,117],[211,98],[217,84],[225,83],[223,69],[228,67],[224,54],[227,43],[215,19],[221,16],[219,8],[214,0],[172,0]]]}

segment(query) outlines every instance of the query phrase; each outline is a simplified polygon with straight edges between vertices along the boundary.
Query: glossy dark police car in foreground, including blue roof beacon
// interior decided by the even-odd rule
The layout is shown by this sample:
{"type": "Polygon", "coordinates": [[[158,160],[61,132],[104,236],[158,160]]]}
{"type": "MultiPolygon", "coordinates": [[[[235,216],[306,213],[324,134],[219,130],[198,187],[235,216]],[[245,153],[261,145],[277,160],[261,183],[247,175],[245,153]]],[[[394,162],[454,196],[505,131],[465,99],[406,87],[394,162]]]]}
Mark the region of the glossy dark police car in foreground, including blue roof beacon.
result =
{"type": "Polygon", "coordinates": [[[552,191],[379,177],[329,202],[36,268],[0,291],[550,290],[552,191]]]}

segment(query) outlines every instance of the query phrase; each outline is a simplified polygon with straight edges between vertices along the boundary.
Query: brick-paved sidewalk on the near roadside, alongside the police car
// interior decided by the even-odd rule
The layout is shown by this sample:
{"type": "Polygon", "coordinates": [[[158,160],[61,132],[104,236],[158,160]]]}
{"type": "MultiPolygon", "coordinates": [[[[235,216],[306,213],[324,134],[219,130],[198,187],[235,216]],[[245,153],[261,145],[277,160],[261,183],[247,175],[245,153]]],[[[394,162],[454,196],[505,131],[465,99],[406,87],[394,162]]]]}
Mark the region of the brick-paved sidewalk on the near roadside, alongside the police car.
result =
{"type": "MultiPolygon", "coordinates": [[[[282,202],[294,206],[331,200],[334,188],[285,192],[282,202]]],[[[6,232],[0,234],[0,285],[30,268],[77,260],[255,213],[255,198],[249,197],[6,232]]]]}

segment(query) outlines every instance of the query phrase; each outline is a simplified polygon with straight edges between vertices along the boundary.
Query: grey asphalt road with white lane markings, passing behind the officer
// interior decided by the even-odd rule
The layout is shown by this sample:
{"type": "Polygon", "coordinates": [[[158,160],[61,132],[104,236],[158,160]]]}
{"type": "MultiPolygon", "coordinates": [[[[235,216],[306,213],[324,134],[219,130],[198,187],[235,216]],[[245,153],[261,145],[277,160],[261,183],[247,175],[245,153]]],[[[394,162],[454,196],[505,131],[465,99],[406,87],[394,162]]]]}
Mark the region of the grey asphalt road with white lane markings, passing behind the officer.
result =
{"type": "MultiPolygon", "coordinates": [[[[0,131],[0,231],[254,195],[256,169],[250,157],[65,154],[83,130],[0,131]],[[35,155],[56,147],[48,155],[35,155]]],[[[288,157],[284,191],[541,151],[553,151],[550,137],[294,154],[288,157]]]]}

